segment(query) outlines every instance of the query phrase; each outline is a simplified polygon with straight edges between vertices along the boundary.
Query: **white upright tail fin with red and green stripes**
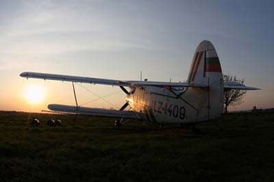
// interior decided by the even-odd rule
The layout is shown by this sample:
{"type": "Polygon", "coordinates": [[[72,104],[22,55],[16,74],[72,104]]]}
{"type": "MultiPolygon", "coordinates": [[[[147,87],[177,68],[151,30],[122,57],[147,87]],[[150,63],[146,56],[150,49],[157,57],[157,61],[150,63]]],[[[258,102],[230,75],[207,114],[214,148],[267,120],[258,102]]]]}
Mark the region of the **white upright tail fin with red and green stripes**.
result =
{"type": "Polygon", "coordinates": [[[208,85],[208,89],[202,91],[207,99],[200,114],[208,120],[219,117],[223,111],[223,73],[216,50],[208,40],[203,40],[193,55],[188,75],[188,83],[192,82],[208,85]]]}

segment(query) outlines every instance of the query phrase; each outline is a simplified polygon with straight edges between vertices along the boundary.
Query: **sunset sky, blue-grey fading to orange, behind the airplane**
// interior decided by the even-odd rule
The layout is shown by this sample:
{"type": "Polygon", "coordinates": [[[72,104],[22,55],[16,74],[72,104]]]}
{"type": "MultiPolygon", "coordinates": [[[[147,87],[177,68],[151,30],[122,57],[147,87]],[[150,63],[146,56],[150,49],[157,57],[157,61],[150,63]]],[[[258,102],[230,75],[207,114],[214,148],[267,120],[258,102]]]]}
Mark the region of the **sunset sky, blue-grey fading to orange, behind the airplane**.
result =
{"type": "MultiPolygon", "coordinates": [[[[23,79],[24,71],[139,80],[142,70],[149,81],[186,81],[202,40],[214,44],[224,74],[262,89],[231,110],[274,107],[273,2],[0,1],[0,110],[75,104],[71,83],[23,79]]],[[[84,106],[125,103],[120,88],[75,88],[80,104],[118,92],[84,106]]]]}

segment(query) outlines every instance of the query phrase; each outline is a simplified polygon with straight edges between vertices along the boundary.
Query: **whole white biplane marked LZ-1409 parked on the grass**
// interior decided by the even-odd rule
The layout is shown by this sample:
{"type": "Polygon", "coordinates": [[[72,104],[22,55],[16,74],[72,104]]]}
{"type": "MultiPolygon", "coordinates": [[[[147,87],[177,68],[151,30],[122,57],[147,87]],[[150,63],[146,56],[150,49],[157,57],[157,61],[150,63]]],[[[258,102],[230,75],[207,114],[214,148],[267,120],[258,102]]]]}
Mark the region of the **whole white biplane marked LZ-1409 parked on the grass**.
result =
{"type": "Polygon", "coordinates": [[[160,126],[169,124],[184,126],[214,120],[221,116],[223,111],[225,90],[258,90],[258,88],[247,87],[240,83],[223,82],[219,57],[213,44],[208,40],[203,40],[198,45],[193,55],[188,81],[185,83],[121,81],[31,72],[21,73],[20,76],[119,86],[127,94],[126,103],[120,110],[78,107],[77,105],[48,105],[48,108],[54,112],[121,118],[121,121],[115,123],[117,127],[123,123],[123,119],[133,118],[155,122],[160,126]],[[130,109],[125,111],[127,106],[130,109]]]}

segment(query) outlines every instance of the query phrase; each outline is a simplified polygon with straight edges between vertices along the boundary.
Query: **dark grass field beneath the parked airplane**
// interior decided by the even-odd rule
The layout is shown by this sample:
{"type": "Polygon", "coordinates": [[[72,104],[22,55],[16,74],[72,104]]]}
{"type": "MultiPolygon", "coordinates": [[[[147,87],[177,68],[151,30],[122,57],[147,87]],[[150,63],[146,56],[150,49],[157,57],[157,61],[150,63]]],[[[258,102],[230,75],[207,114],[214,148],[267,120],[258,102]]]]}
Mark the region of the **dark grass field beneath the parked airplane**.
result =
{"type": "Polygon", "coordinates": [[[199,134],[72,120],[0,112],[0,181],[274,181],[274,112],[228,114],[197,125],[199,134]],[[26,125],[34,117],[41,125],[26,125]],[[48,127],[50,118],[63,126],[48,127]]]}

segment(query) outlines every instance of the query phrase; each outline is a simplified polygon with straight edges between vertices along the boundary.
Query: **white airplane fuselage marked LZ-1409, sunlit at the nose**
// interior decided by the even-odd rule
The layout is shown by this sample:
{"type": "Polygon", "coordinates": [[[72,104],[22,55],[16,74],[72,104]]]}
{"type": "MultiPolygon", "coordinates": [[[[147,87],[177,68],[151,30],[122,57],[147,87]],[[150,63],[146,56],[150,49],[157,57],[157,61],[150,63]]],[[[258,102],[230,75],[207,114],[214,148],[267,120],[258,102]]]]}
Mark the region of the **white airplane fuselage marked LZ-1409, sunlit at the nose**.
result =
{"type": "Polygon", "coordinates": [[[135,112],[142,113],[145,120],[158,124],[184,124],[214,119],[208,117],[207,99],[208,94],[199,88],[177,93],[166,88],[146,87],[132,88],[126,101],[135,112]],[[191,96],[193,94],[195,97],[191,96]]]}

